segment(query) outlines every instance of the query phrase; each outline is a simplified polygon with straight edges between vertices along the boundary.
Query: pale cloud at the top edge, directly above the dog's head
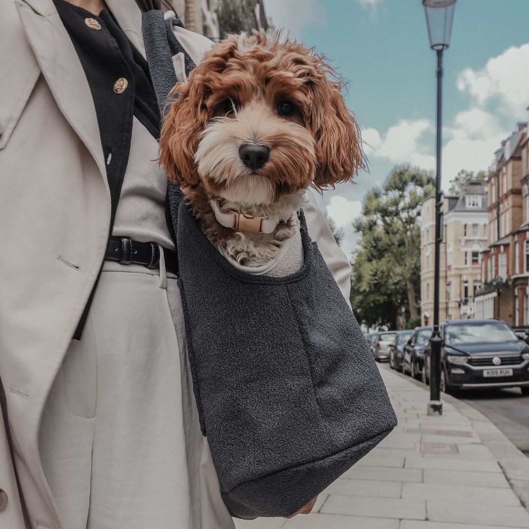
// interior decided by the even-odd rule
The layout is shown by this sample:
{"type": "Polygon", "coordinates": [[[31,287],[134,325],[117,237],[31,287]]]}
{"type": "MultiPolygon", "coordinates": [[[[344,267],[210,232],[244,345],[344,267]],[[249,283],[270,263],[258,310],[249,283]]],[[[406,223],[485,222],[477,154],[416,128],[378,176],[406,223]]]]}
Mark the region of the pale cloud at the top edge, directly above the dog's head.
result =
{"type": "Polygon", "coordinates": [[[325,10],[317,0],[267,0],[266,14],[272,17],[276,29],[285,28],[291,38],[303,40],[303,28],[326,23],[325,10]]]}

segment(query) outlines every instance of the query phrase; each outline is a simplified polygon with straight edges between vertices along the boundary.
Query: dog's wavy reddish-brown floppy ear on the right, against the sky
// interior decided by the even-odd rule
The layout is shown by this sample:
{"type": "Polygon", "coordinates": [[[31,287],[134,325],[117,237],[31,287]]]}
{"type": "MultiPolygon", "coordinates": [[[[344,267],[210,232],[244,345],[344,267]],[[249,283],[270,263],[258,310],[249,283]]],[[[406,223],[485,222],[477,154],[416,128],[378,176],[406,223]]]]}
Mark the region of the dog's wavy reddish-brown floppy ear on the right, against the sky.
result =
{"type": "MultiPolygon", "coordinates": [[[[334,75],[323,64],[324,72],[334,75]]],[[[342,83],[328,75],[317,79],[307,77],[312,92],[310,121],[307,123],[316,140],[318,166],[313,185],[316,188],[350,181],[364,166],[360,130],[341,94],[342,83]]]]}

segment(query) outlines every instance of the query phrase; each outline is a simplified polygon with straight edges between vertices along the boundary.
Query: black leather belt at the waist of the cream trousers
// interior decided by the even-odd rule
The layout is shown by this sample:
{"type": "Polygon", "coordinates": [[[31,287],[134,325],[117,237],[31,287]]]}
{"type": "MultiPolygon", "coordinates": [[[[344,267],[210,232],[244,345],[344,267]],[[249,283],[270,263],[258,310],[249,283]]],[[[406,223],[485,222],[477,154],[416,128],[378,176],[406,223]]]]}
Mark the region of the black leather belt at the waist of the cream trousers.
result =
{"type": "MultiPolygon", "coordinates": [[[[178,275],[178,254],[163,248],[166,270],[178,275]]],[[[136,242],[129,237],[111,237],[106,245],[105,260],[117,261],[121,265],[143,265],[145,268],[160,268],[160,248],[156,242],[136,242]]]]}

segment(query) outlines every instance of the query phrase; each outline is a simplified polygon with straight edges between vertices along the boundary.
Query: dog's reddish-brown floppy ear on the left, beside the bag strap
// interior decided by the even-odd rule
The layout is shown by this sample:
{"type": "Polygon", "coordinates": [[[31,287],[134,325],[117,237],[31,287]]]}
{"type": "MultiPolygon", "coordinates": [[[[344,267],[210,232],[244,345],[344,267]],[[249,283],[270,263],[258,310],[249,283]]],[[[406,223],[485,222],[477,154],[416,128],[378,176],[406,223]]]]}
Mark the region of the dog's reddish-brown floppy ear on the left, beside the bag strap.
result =
{"type": "Polygon", "coordinates": [[[193,156],[208,120],[204,105],[205,88],[193,79],[191,72],[188,83],[178,83],[171,95],[180,94],[171,104],[163,120],[160,138],[160,163],[170,180],[179,181],[184,187],[195,187],[199,176],[193,156]]]}

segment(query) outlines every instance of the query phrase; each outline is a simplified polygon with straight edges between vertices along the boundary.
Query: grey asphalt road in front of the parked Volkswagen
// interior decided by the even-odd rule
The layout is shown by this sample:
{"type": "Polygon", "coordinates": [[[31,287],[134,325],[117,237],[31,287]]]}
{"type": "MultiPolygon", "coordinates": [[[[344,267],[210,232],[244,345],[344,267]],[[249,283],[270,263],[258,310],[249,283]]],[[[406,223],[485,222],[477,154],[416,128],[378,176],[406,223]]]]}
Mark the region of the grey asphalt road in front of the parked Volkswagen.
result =
{"type": "Polygon", "coordinates": [[[519,388],[476,389],[454,392],[453,395],[485,415],[529,457],[529,397],[524,397],[519,388]]]}

